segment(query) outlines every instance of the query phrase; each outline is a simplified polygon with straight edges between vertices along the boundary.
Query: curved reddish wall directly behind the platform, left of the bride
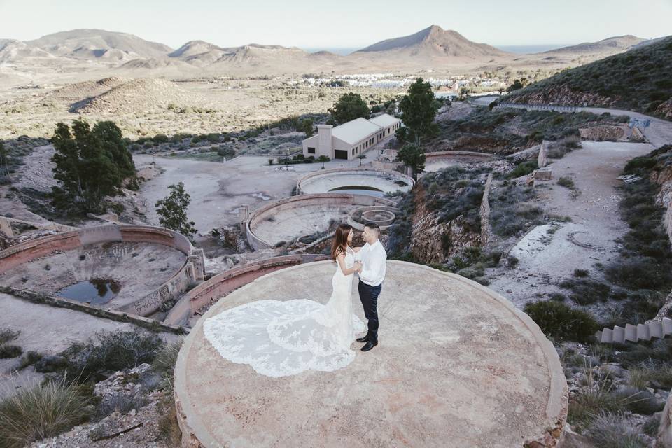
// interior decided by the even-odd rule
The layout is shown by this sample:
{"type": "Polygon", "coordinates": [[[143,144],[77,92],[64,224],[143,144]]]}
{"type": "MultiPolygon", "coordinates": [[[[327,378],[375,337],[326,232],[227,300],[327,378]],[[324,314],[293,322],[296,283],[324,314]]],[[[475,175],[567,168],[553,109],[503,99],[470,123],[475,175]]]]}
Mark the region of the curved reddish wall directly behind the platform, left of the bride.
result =
{"type": "Polygon", "coordinates": [[[211,279],[204,281],[193,288],[172,307],[163,323],[166,325],[185,325],[195,312],[208,305],[217,302],[221,297],[232,290],[254,281],[258,277],[269,272],[283,269],[288,266],[300,265],[304,262],[324,260],[326,255],[286,255],[283,257],[268,258],[246,265],[234,267],[228,271],[217,274],[211,279]]]}

